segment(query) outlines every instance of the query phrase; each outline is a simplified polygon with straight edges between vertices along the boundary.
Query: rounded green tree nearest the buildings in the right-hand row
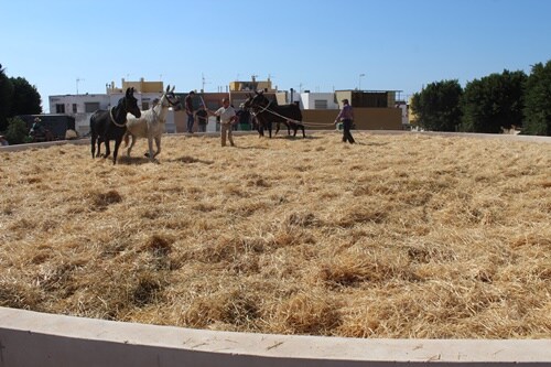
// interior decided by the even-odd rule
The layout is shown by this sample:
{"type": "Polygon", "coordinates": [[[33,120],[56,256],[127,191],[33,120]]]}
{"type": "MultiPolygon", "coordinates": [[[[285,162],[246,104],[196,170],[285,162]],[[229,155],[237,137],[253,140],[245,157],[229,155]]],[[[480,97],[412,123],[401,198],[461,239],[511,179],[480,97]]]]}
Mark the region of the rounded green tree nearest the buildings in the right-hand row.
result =
{"type": "Polygon", "coordinates": [[[429,84],[411,100],[417,123],[431,131],[456,131],[462,117],[462,95],[463,88],[456,79],[429,84]]]}

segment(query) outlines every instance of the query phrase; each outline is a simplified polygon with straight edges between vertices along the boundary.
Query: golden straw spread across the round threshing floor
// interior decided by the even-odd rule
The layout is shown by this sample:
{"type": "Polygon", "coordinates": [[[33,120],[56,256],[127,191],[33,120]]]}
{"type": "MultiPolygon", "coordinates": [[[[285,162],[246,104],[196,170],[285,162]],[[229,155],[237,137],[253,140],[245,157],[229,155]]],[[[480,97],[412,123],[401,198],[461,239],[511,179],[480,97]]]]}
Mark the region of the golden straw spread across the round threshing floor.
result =
{"type": "Polygon", "coordinates": [[[355,138],[169,136],[160,164],[115,166],[88,145],[0,152],[0,305],[256,333],[551,337],[551,144],[355,138]]]}

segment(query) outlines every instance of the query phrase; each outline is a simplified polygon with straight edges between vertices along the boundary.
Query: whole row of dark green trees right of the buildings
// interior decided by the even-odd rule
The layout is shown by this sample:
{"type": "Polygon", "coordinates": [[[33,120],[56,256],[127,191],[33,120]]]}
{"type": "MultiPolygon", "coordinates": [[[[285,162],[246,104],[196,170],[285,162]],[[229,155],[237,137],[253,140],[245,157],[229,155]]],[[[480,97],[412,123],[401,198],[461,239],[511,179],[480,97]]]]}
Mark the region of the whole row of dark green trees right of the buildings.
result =
{"type": "Polygon", "coordinates": [[[551,61],[525,72],[490,74],[462,88],[458,80],[429,84],[413,94],[414,123],[430,131],[551,136],[551,61]]]}

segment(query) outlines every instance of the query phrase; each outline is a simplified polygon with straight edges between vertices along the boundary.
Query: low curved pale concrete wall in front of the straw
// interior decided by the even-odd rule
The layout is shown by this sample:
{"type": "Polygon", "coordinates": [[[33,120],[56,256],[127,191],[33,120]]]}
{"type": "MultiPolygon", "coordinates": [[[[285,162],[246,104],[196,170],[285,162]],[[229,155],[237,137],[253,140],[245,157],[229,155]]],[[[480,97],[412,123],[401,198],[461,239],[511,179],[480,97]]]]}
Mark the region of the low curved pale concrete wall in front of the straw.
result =
{"type": "Polygon", "coordinates": [[[360,339],[154,326],[0,307],[0,366],[551,366],[551,339],[360,339]]]}

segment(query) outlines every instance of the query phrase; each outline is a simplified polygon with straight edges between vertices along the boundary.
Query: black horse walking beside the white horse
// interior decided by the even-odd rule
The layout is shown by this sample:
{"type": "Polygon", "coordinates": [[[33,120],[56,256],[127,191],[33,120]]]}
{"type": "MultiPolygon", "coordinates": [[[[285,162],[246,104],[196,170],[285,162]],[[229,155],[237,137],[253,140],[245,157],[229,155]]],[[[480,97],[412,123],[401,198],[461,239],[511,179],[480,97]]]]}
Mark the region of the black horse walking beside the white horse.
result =
{"type": "Polygon", "coordinates": [[[134,97],[134,88],[128,88],[125,97],[119,99],[117,106],[109,110],[98,109],[90,117],[91,158],[100,155],[101,142],[105,142],[104,158],[109,156],[111,150],[109,140],[115,140],[112,164],[117,164],[117,154],[125,132],[127,132],[127,114],[136,117],[141,116],[138,99],[134,97]],[[98,151],[96,154],[96,142],[98,151]]]}

